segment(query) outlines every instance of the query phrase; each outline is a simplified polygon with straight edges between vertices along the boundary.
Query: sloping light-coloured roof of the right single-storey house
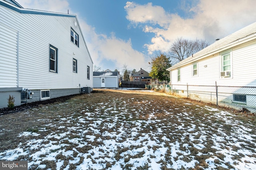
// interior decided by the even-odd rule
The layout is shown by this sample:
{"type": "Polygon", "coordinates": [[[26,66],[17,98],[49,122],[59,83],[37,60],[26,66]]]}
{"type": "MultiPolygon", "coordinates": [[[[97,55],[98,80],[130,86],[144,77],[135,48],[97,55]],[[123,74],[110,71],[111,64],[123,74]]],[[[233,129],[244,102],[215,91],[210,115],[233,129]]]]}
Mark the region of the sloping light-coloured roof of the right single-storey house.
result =
{"type": "Polygon", "coordinates": [[[167,70],[172,70],[183,66],[188,63],[192,63],[197,61],[198,59],[202,59],[205,57],[209,57],[226,49],[230,49],[242,43],[246,43],[256,39],[256,22],[244,27],[218,41],[215,41],[213,44],[209,45],[208,47],[198,51],[197,53],[193,54],[192,56],[180,61],[179,63],[167,68],[167,70]]]}

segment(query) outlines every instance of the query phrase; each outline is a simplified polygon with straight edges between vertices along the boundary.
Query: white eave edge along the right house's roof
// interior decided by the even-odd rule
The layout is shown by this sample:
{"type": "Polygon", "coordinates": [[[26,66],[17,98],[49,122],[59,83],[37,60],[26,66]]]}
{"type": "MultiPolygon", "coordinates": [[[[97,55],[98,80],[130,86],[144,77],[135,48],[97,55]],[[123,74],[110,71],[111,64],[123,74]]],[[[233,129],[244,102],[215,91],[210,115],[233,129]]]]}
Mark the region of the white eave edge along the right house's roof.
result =
{"type": "MultiPolygon", "coordinates": [[[[246,36],[246,37],[243,37],[243,38],[241,38],[241,39],[238,39],[238,40],[236,40],[236,41],[233,41],[232,43],[228,43],[228,44],[226,44],[226,45],[223,45],[222,47],[219,47],[219,48],[217,48],[217,49],[214,49],[214,50],[212,50],[212,51],[209,51],[208,53],[206,53],[206,54],[204,54],[204,55],[202,55],[202,56],[195,57],[195,59],[189,60],[188,62],[180,63],[180,62],[181,62],[181,61],[180,61],[180,62],[179,62],[180,64],[177,63],[177,64],[175,64],[174,66],[171,66],[170,68],[167,68],[166,70],[171,71],[171,70],[173,70],[173,69],[175,69],[175,68],[184,66],[184,65],[189,64],[189,63],[193,63],[193,62],[198,61],[198,60],[200,60],[200,59],[204,59],[204,58],[209,57],[209,56],[211,56],[211,55],[214,55],[214,54],[216,54],[216,53],[220,53],[220,52],[222,52],[222,51],[224,51],[224,50],[227,50],[227,49],[236,47],[236,46],[238,46],[238,45],[241,45],[241,44],[243,44],[243,43],[247,43],[247,42],[249,42],[249,41],[252,41],[252,40],[256,39],[255,37],[256,37],[256,33],[253,33],[253,34],[251,34],[251,35],[248,35],[248,36],[246,36]]],[[[192,56],[190,56],[190,57],[188,57],[188,58],[192,58],[192,56]]]]}

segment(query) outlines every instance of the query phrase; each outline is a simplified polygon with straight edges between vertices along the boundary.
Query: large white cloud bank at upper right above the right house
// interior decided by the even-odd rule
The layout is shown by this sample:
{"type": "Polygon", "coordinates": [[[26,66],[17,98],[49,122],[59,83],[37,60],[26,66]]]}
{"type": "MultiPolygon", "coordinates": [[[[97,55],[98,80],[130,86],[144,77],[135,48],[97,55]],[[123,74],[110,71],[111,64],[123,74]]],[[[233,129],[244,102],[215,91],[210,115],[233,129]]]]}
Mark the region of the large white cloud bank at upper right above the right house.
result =
{"type": "Polygon", "coordinates": [[[180,9],[188,9],[190,18],[170,14],[152,3],[126,3],[126,18],[135,25],[147,24],[143,31],[155,34],[151,43],[145,44],[148,53],[167,51],[178,37],[206,39],[213,43],[215,39],[255,22],[256,18],[255,0],[200,0],[198,4],[181,4],[180,9]]]}

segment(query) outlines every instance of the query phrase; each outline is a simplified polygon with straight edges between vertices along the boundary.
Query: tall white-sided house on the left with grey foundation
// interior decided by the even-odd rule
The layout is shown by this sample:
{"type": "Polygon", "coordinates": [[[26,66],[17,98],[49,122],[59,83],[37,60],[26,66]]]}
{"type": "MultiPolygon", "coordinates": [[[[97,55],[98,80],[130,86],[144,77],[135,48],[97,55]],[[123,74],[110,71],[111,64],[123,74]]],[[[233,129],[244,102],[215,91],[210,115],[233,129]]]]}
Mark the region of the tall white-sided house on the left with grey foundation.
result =
{"type": "Polygon", "coordinates": [[[0,37],[0,108],[9,95],[19,106],[92,90],[93,62],[76,15],[0,0],[0,37]]]}

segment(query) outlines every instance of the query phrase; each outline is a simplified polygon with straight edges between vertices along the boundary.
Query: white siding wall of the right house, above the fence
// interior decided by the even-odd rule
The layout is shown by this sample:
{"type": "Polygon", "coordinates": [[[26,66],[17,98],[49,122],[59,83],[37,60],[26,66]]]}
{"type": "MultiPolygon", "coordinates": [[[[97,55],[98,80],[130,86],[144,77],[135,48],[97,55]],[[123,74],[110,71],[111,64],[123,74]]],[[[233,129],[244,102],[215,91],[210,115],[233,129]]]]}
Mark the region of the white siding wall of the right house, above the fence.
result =
{"type": "Polygon", "coordinates": [[[256,40],[232,48],[232,72],[230,78],[220,77],[219,53],[198,60],[198,76],[192,75],[192,63],[180,68],[180,82],[177,69],[172,70],[172,84],[214,86],[256,86],[256,40]]]}

